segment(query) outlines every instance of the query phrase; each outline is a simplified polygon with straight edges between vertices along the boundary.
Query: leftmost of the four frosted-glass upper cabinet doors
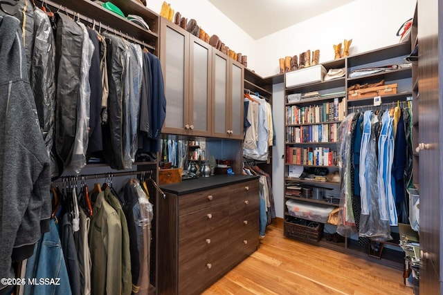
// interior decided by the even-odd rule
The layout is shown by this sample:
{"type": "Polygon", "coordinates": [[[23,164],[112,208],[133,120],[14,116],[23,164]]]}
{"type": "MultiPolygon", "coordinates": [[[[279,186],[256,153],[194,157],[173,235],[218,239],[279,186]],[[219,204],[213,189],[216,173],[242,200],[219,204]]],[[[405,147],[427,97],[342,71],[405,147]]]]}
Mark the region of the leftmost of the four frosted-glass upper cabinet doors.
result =
{"type": "Polygon", "coordinates": [[[162,133],[186,134],[189,113],[189,35],[186,30],[162,18],[160,41],[166,96],[162,133]]]}

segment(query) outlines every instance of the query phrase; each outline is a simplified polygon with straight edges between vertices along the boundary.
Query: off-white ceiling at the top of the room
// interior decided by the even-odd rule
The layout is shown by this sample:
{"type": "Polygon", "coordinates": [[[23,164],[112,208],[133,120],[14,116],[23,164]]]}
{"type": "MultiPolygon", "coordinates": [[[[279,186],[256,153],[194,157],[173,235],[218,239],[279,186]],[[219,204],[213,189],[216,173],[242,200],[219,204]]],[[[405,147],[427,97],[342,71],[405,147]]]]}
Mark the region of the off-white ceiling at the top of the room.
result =
{"type": "Polygon", "coordinates": [[[354,0],[208,1],[256,40],[354,0]]]}

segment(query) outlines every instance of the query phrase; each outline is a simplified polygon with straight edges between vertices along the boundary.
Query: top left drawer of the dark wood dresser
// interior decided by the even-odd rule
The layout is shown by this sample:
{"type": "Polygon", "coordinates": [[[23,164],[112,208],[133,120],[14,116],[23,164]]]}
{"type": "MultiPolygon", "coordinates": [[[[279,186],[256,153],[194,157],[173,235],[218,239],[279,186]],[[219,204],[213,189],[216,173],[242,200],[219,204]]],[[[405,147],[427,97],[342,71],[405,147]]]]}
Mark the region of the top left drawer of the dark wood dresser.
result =
{"type": "Polygon", "coordinates": [[[229,202],[229,191],[229,187],[219,187],[179,196],[179,216],[229,202]]]}

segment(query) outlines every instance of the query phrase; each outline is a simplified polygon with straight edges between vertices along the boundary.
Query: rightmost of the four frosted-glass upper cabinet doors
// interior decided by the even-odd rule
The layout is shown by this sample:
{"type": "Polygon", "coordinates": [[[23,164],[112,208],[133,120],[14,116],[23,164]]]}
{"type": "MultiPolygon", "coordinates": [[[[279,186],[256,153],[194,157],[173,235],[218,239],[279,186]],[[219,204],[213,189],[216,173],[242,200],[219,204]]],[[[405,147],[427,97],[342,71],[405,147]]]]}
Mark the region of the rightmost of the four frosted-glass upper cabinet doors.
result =
{"type": "Polygon", "coordinates": [[[231,59],[230,62],[230,138],[243,138],[243,83],[244,68],[242,64],[231,59]]]}

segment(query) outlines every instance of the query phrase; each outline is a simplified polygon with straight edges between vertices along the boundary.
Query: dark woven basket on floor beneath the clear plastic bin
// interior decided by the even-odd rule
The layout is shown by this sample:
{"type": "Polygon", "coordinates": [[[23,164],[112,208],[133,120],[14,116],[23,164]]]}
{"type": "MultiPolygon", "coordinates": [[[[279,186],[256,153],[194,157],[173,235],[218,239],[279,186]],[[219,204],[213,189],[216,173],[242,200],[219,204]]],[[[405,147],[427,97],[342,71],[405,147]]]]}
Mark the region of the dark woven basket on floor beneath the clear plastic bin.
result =
{"type": "Polygon", "coordinates": [[[311,242],[318,242],[323,234],[323,223],[288,216],[285,219],[284,236],[301,238],[311,242]]]}

